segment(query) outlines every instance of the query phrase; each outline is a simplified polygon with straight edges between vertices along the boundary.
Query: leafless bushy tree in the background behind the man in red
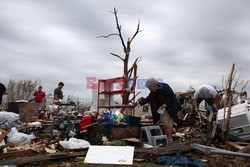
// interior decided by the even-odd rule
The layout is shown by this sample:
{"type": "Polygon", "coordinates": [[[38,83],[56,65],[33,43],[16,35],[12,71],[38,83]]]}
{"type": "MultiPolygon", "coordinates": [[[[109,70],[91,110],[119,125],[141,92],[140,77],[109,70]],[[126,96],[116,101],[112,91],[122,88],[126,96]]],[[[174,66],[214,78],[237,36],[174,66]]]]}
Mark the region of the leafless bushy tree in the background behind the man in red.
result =
{"type": "Polygon", "coordinates": [[[33,98],[33,93],[40,84],[37,80],[15,80],[10,79],[7,87],[8,101],[30,100],[33,98]]]}

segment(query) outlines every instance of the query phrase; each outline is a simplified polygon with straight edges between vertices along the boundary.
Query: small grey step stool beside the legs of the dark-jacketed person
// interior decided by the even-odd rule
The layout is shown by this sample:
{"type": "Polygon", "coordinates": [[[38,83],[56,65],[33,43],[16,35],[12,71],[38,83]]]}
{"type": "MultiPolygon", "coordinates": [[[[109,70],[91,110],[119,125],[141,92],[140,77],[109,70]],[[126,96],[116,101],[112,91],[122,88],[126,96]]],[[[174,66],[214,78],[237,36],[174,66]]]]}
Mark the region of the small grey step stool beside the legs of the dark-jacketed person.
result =
{"type": "Polygon", "coordinates": [[[166,135],[162,134],[160,126],[144,126],[141,127],[141,141],[145,142],[144,137],[146,136],[146,144],[157,146],[159,144],[168,144],[166,135]]]}

